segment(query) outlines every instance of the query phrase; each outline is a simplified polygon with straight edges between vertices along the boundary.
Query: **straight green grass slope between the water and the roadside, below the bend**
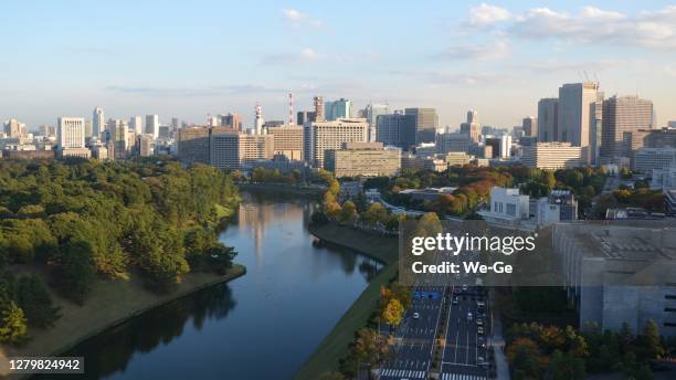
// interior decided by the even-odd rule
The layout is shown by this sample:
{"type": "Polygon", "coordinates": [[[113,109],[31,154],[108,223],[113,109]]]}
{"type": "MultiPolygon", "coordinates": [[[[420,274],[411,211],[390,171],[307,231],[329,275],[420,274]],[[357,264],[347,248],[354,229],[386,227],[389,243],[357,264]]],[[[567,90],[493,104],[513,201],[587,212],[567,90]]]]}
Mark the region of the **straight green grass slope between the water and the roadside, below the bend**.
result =
{"type": "Polygon", "coordinates": [[[315,352],[300,367],[294,379],[316,379],[323,372],[337,371],[338,359],[347,355],[355,332],[367,325],[380,299],[380,287],[397,275],[398,262],[388,265],[361,293],[334,329],[321,340],[315,352]]]}

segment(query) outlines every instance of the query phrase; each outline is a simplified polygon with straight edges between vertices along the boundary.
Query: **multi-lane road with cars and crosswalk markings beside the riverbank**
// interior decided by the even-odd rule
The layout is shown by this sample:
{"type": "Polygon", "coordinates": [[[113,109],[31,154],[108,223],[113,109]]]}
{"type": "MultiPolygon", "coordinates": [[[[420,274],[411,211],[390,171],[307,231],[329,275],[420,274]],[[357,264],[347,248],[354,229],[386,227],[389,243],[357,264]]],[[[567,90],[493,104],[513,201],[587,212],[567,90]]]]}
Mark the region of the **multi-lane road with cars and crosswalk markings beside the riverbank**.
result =
{"type": "MultiPolygon", "coordinates": [[[[487,379],[486,336],[490,321],[486,317],[485,299],[475,287],[414,287],[412,305],[393,334],[395,344],[379,370],[379,378],[429,379],[439,348],[443,350],[441,371],[435,372],[439,379],[487,379]],[[442,318],[443,312],[446,320],[442,318]],[[435,341],[440,329],[445,335],[435,341]]],[[[381,331],[387,334],[387,327],[381,327],[381,331]]]]}

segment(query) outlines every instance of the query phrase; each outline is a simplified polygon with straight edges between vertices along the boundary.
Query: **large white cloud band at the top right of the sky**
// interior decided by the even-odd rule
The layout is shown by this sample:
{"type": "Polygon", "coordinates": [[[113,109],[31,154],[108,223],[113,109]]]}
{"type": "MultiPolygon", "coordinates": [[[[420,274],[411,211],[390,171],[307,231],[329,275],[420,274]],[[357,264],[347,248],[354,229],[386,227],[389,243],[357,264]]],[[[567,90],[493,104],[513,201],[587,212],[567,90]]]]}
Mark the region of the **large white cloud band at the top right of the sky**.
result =
{"type": "Polygon", "coordinates": [[[538,40],[670,49],[676,48],[676,6],[636,15],[594,7],[584,7],[577,14],[535,8],[517,15],[507,31],[538,40]]]}

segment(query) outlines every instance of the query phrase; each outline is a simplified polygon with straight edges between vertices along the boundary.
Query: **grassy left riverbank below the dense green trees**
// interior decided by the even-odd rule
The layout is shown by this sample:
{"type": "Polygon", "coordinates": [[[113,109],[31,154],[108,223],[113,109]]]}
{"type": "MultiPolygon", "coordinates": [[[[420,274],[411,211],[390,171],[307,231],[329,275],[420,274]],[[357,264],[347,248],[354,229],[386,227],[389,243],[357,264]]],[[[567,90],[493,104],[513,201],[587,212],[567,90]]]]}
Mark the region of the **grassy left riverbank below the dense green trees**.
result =
{"type": "Polygon", "coordinates": [[[0,347],[0,376],[6,374],[8,356],[46,356],[67,351],[77,344],[94,337],[155,307],[182,298],[216,284],[229,282],[246,273],[242,265],[233,264],[225,275],[194,272],[183,275],[177,288],[157,294],[144,286],[140,276],[129,281],[98,279],[85,305],[80,306],[52,294],[61,307],[61,318],[53,327],[31,329],[32,339],[23,347],[0,347]]]}

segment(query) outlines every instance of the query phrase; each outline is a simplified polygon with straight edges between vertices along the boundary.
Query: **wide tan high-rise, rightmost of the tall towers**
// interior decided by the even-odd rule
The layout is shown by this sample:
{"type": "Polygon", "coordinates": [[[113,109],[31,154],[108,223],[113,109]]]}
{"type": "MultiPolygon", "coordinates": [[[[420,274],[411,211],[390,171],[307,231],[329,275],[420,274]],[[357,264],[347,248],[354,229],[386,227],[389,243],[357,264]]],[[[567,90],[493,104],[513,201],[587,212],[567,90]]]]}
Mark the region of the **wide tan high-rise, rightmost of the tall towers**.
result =
{"type": "Polygon", "coordinates": [[[646,134],[641,129],[653,128],[653,102],[637,96],[613,96],[603,102],[603,128],[601,156],[632,157],[635,149],[632,137],[646,134]]]}

